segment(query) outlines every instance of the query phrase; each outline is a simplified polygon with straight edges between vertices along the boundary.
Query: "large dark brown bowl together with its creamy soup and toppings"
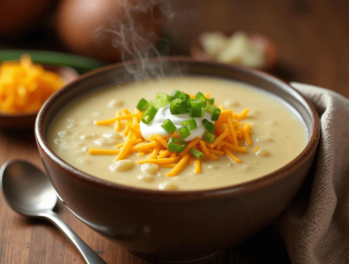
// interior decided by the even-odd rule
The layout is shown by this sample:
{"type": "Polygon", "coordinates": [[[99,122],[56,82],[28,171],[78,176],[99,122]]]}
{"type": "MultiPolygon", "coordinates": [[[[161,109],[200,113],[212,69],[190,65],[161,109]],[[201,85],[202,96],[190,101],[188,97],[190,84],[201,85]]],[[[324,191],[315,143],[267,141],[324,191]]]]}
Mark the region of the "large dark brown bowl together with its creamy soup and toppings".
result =
{"type": "Polygon", "coordinates": [[[135,254],[172,262],[233,246],[280,216],[319,135],[314,107],[287,83],[185,57],[90,71],[54,93],[35,125],[67,208],[135,254]]]}

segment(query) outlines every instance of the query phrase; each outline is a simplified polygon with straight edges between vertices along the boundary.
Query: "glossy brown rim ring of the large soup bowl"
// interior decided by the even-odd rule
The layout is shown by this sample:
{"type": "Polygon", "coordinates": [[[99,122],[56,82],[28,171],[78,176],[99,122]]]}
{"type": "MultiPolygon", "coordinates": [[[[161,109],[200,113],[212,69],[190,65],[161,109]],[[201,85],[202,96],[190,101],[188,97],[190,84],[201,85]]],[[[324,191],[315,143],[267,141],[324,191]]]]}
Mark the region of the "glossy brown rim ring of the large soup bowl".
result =
{"type": "MultiPolygon", "coordinates": [[[[275,77],[269,73],[262,72],[260,70],[251,69],[244,66],[236,66],[236,65],[230,65],[226,63],[220,63],[220,62],[202,62],[197,61],[191,57],[188,56],[170,56],[170,57],[164,57],[163,60],[167,61],[179,61],[179,62],[187,62],[187,63],[207,63],[210,65],[217,65],[217,66],[223,66],[223,67],[229,67],[229,68],[237,68],[237,69],[243,69],[247,70],[250,73],[257,75],[261,78],[272,78],[274,81],[281,82],[283,84],[286,84],[288,88],[296,91],[300,97],[302,97],[309,107],[311,113],[309,113],[314,120],[313,123],[313,131],[309,138],[309,141],[305,148],[300,152],[294,159],[292,159],[289,163],[285,164],[281,168],[268,173],[266,175],[263,175],[257,179],[234,184],[230,186],[225,187],[219,187],[219,188],[213,188],[213,189],[201,189],[201,190],[176,190],[176,191],[166,191],[166,190],[155,190],[155,189],[142,189],[132,186],[126,186],[118,183],[109,182],[100,178],[97,178],[95,176],[92,176],[88,173],[82,172],[79,169],[73,167],[72,165],[69,165],[66,161],[61,159],[56,153],[51,150],[49,144],[47,143],[43,131],[43,121],[46,115],[46,112],[49,110],[51,105],[54,103],[55,99],[60,97],[62,93],[64,93],[66,90],[70,89],[72,86],[75,86],[75,84],[83,82],[84,79],[87,77],[90,77],[92,75],[101,73],[103,71],[123,67],[124,64],[122,62],[113,63],[107,66],[103,66],[101,68],[89,71],[88,73],[82,74],[77,80],[73,81],[72,83],[64,86],[60,90],[54,92],[49,99],[46,100],[42,108],[40,108],[39,113],[37,115],[36,121],[35,121],[35,139],[39,148],[39,151],[44,153],[46,157],[51,161],[51,163],[54,163],[55,167],[60,167],[65,171],[65,174],[68,174],[69,177],[74,178],[77,181],[81,181],[85,184],[94,185],[96,188],[102,188],[104,190],[109,191],[115,191],[117,194],[126,194],[126,195],[134,195],[134,196],[147,196],[148,198],[170,198],[170,199],[202,199],[202,198],[209,198],[209,197],[225,197],[225,196],[233,196],[238,194],[247,193],[253,190],[257,190],[263,187],[266,187],[270,184],[273,184],[277,181],[282,180],[285,178],[290,171],[294,171],[297,167],[302,165],[304,162],[306,162],[307,158],[312,155],[312,153],[316,150],[316,147],[319,142],[320,138],[320,119],[317,111],[315,110],[315,107],[310,103],[308,99],[306,99],[302,94],[300,94],[297,90],[292,88],[288,83],[283,81],[282,79],[275,77]]],[[[149,59],[149,62],[157,61],[158,58],[152,58],[149,59]]],[[[129,61],[128,63],[139,63],[139,61],[129,61]]],[[[302,102],[301,102],[302,103],[302,102]]],[[[303,103],[302,103],[303,104],[303,103]]],[[[304,104],[303,104],[304,105],[304,104]]],[[[43,156],[43,155],[42,155],[43,156]]]]}

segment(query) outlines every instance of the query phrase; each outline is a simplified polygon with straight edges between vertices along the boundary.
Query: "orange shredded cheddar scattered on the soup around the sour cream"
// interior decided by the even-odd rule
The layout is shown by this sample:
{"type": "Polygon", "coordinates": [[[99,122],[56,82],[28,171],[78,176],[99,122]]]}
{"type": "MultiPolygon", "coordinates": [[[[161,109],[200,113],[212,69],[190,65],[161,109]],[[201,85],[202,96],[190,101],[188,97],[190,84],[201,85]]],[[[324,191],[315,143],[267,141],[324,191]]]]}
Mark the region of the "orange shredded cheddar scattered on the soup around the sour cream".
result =
{"type": "MultiPolygon", "coordinates": [[[[191,98],[195,96],[190,95],[191,98]]],[[[205,93],[207,99],[209,93],[205,93]]],[[[137,153],[139,157],[147,155],[144,159],[138,160],[138,164],[151,163],[157,164],[162,168],[171,169],[166,176],[173,177],[185,169],[187,165],[194,165],[194,172],[201,173],[202,161],[192,156],[189,152],[191,148],[200,150],[203,153],[203,159],[217,160],[218,156],[226,155],[236,163],[242,162],[233,152],[246,153],[246,146],[239,146],[243,140],[247,146],[252,145],[251,136],[253,131],[249,123],[244,124],[242,120],[247,117],[249,110],[246,108],[241,113],[233,113],[231,109],[225,110],[220,107],[221,114],[215,122],[215,136],[213,143],[203,141],[196,137],[187,142],[185,149],[180,153],[173,153],[167,149],[168,141],[171,137],[180,138],[178,131],[171,135],[163,137],[159,134],[151,135],[148,139],[142,137],[139,123],[141,122],[142,112],[135,109],[134,113],[124,108],[122,111],[116,111],[111,119],[99,120],[95,122],[97,126],[114,125],[116,131],[122,131],[125,136],[125,142],[115,146],[115,149],[96,149],[90,148],[90,155],[114,155],[115,161],[126,159],[130,154],[137,153]],[[239,141],[240,140],[240,141],[239,141]]],[[[257,151],[256,147],[253,151],[257,151]]]]}

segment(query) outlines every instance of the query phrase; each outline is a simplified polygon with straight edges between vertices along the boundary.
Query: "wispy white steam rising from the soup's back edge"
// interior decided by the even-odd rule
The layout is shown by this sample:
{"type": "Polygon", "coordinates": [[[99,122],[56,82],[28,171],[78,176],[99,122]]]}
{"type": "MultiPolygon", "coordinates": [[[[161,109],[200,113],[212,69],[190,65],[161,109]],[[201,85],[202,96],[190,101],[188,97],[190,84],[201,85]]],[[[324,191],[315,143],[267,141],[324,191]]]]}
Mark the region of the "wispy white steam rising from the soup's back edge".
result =
{"type": "MultiPolygon", "coordinates": [[[[149,63],[149,58],[160,58],[169,55],[166,39],[159,38],[156,28],[149,29],[146,21],[137,21],[137,14],[150,13],[151,19],[158,24],[162,20],[171,20],[174,12],[174,1],[169,0],[117,0],[123,9],[123,15],[110,18],[107,25],[99,27],[95,32],[96,38],[103,38],[106,33],[112,33],[112,46],[119,50],[121,60],[125,65],[127,74],[115,76],[117,84],[125,81],[144,81],[149,78],[163,78],[164,73],[181,76],[186,72],[183,67],[166,60],[157,60],[149,63]],[[147,31],[148,30],[148,31],[147,31]],[[162,46],[158,50],[157,45],[162,46]],[[132,65],[130,60],[141,61],[139,65],[132,65]]],[[[167,74],[168,76],[168,74],[167,74]]]]}

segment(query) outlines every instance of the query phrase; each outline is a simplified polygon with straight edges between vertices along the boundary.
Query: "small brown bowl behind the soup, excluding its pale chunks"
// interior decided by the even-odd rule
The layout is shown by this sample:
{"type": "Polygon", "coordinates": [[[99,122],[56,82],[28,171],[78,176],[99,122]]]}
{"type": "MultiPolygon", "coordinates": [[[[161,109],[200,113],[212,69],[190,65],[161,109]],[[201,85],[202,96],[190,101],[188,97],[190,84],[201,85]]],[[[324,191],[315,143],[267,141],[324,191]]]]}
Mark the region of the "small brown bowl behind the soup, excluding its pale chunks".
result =
{"type": "MultiPolygon", "coordinates": [[[[229,37],[235,32],[223,32],[225,36],[229,37]]],[[[272,72],[275,67],[276,63],[279,60],[279,51],[277,50],[275,44],[268,38],[254,32],[244,32],[250,41],[250,43],[258,48],[260,48],[265,53],[265,63],[258,68],[259,70],[272,72]]],[[[217,61],[213,58],[210,58],[205,51],[203,50],[201,38],[202,33],[200,36],[193,39],[192,43],[190,44],[190,54],[192,57],[199,61],[217,61]]]]}

